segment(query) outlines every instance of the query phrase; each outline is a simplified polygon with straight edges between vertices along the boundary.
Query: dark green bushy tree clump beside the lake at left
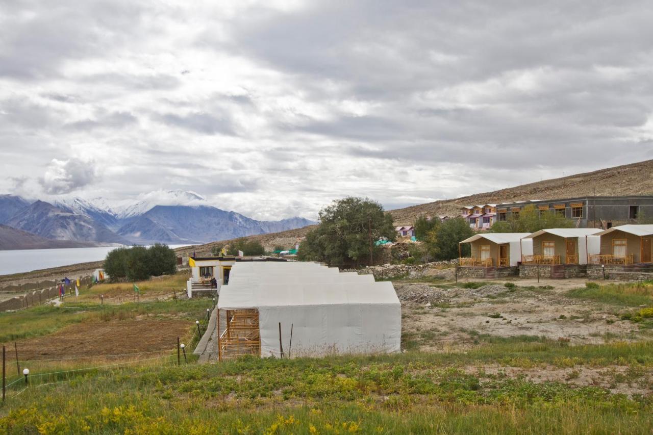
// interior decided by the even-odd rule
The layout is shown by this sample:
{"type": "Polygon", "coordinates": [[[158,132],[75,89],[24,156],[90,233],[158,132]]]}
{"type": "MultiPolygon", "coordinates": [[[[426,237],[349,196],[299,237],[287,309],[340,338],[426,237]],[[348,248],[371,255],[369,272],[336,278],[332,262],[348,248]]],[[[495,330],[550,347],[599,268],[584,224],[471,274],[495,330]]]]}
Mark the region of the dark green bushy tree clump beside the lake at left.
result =
{"type": "Polygon", "coordinates": [[[112,280],[147,280],[150,276],[174,274],[176,270],[177,256],[163,244],[118,248],[104,259],[104,271],[112,280]]]}

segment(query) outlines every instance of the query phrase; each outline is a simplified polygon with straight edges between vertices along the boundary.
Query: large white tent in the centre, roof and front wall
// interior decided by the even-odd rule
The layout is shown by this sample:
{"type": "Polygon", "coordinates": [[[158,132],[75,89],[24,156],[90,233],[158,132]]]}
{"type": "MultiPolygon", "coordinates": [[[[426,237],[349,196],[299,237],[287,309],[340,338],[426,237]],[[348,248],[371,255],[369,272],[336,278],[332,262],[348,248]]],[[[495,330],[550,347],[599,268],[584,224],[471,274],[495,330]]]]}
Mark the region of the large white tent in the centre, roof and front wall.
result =
{"type": "Polygon", "coordinates": [[[259,313],[261,357],[400,351],[401,304],[390,282],[317,263],[238,262],[218,310],[259,313]]]}

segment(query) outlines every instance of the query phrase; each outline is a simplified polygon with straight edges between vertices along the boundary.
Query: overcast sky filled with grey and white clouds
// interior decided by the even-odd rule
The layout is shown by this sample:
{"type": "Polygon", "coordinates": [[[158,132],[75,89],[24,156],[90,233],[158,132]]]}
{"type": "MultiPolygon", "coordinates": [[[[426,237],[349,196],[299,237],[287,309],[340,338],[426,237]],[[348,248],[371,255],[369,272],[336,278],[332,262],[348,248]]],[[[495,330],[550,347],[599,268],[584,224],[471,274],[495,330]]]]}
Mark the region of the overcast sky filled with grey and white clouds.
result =
{"type": "Polygon", "coordinates": [[[648,0],[0,0],[0,193],[314,218],[645,159],[648,0]]]}

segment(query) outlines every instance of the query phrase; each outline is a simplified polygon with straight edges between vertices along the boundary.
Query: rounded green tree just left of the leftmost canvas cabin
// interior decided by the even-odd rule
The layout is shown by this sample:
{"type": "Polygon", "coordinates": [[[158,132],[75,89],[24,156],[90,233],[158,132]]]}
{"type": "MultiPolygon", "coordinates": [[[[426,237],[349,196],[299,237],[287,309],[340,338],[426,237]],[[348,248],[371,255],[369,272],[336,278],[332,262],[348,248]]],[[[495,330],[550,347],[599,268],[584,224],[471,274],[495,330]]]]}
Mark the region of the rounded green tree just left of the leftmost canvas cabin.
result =
{"type": "MultiPolygon", "coordinates": [[[[469,223],[462,217],[447,219],[426,234],[424,246],[428,255],[436,260],[458,258],[458,244],[474,235],[469,223]]],[[[469,244],[461,246],[462,255],[470,253],[469,244]]]]}

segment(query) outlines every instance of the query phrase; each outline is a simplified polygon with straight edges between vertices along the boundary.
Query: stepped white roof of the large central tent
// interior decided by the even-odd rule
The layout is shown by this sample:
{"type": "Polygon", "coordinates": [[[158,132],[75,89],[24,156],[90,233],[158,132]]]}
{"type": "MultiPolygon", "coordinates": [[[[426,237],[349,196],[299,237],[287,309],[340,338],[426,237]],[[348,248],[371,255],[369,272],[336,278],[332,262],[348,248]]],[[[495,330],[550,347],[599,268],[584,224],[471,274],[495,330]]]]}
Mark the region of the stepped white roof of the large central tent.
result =
{"type": "Polygon", "coordinates": [[[390,282],[370,275],[340,273],[317,263],[238,262],[229,285],[220,289],[218,308],[391,304],[400,306],[390,282]]]}

